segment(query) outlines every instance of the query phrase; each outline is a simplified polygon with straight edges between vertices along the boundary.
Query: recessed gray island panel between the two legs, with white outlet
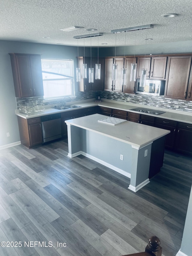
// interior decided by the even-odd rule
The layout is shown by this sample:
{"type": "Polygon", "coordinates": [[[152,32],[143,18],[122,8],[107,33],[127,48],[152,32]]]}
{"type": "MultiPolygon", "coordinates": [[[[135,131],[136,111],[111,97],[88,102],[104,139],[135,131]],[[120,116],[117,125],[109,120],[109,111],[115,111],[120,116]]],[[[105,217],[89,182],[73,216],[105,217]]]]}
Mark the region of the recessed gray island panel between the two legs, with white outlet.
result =
{"type": "Polygon", "coordinates": [[[118,168],[119,171],[122,170],[123,172],[120,173],[125,176],[131,176],[132,147],[130,144],[92,131],[82,130],[82,151],[118,168]],[[123,161],[120,160],[120,155],[123,155],[123,161]]]}

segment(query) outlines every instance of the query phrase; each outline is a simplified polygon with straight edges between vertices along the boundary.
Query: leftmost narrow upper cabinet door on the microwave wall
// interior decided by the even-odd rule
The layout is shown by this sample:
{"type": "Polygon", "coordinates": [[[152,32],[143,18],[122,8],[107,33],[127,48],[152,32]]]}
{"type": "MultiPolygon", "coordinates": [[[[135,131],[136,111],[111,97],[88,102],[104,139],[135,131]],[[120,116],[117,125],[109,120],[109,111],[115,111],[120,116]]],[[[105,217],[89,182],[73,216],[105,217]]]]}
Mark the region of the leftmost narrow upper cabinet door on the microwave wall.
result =
{"type": "Polygon", "coordinates": [[[113,58],[105,59],[105,91],[113,90],[112,67],[113,58]]]}

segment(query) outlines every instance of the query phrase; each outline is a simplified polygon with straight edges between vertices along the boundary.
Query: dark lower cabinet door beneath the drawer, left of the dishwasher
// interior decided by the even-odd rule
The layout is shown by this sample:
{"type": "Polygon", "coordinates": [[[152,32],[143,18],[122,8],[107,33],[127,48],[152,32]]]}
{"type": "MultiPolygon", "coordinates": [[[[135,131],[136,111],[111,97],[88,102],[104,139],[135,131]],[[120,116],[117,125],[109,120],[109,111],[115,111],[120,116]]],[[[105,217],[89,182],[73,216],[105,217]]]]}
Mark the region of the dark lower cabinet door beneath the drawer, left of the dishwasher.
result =
{"type": "Polygon", "coordinates": [[[41,123],[29,125],[30,147],[39,146],[43,143],[41,123]]]}

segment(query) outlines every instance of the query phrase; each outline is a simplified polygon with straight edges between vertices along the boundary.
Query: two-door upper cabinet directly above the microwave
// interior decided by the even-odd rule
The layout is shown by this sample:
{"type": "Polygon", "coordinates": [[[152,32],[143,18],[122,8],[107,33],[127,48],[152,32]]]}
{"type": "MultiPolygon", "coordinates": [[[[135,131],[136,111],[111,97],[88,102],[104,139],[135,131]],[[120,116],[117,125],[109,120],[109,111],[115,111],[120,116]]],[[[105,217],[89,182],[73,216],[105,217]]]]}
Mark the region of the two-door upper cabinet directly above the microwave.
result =
{"type": "Polygon", "coordinates": [[[139,57],[137,63],[137,78],[141,77],[141,69],[145,67],[148,79],[165,79],[167,56],[139,57]]]}

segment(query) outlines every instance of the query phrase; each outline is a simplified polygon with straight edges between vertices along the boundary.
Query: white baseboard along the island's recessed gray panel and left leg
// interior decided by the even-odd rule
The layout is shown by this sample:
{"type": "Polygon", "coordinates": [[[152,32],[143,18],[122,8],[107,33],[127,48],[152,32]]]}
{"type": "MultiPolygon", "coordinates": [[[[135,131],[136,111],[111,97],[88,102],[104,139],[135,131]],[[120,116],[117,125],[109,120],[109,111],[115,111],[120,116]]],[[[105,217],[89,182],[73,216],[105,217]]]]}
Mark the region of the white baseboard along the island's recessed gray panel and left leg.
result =
{"type": "Polygon", "coordinates": [[[128,178],[131,178],[131,173],[125,172],[124,170],[119,169],[118,167],[116,167],[116,166],[114,166],[114,165],[112,165],[112,164],[109,164],[109,163],[107,163],[107,162],[105,162],[105,161],[103,161],[103,160],[101,160],[101,159],[99,159],[99,158],[96,158],[95,156],[89,155],[89,154],[87,154],[87,153],[85,153],[85,152],[79,151],[79,152],[76,152],[76,153],[74,153],[74,154],[69,154],[69,153],[68,153],[67,156],[70,157],[70,158],[73,158],[73,157],[75,157],[75,156],[77,156],[77,155],[84,155],[84,156],[86,156],[87,158],[90,158],[90,159],[92,159],[92,160],[94,160],[94,161],[96,161],[96,162],[98,162],[98,163],[100,163],[100,164],[103,164],[103,165],[106,166],[106,167],[109,167],[110,169],[112,169],[112,170],[114,170],[114,171],[116,171],[116,172],[118,172],[118,173],[121,173],[122,175],[124,175],[124,176],[126,176],[126,177],[128,177],[128,178]]]}

